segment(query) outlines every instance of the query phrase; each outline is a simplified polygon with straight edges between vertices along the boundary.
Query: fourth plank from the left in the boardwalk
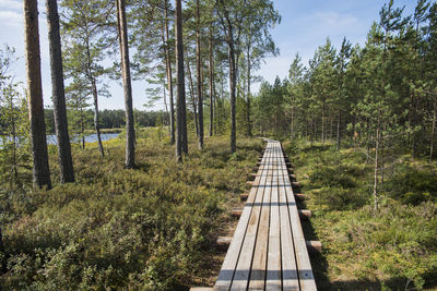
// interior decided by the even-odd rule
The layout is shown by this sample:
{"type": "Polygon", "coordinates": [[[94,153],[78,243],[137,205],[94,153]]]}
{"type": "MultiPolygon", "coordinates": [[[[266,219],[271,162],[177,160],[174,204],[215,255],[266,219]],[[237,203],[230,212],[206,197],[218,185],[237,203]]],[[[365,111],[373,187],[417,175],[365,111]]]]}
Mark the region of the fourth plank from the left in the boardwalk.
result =
{"type": "MultiPolygon", "coordinates": [[[[277,157],[276,157],[277,159],[277,157]]],[[[277,161],[276,161],[277,162],[277,161]]],[[[279,184],[277,169],[274,171],[272,185],[279,184]]],[[[282,290],[281,280],[281,225],[277,186],[272,186],[270,204],[269,251],[265,277],[265,290],[282,290]]]]}

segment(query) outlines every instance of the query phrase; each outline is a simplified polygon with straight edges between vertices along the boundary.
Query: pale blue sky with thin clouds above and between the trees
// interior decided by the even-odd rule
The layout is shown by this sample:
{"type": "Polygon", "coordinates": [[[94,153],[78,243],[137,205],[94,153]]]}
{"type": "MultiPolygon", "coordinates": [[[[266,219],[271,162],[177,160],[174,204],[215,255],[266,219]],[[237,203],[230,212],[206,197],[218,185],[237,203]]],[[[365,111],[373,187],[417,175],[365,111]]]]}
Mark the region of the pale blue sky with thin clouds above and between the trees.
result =
{"type": "MultiPolygon", "coordinates": [[[[383,0],[273,0],[282,21],[272,29],[273,40],[280,49],[279,57],[267,58],[255,74],[268,82],[276,76],[287,77],[290,65],[297,52],[304,63],[314,56],[317,47],[329,37],[334,47],[341,46],[343,37],[353,45],[364,45],[371,23],[379,17],[383,0]]],[[[395,7],[405,7],[404,15],[414,11],[416,0],[394,0],[395,7]]],[[[51,82],[49,68],[49,49],[47,39],[47,21],[45,1],[39,0],[39,39],[42,49],[43,95],[46,106],[51,106],[51,82]]],[[[20,60],[11,68],[14,80],[25,85],[26,71],[24,59],[24,16],[23,0],[0,0],[0,46],[8,44],[16,49],[20,60]]],[[[109,81],[111,97],[99,99],[101,109],[123,109],[123,95],[120,82],[109,81]]],[[[145,82],[132,82],[133,106],[144,109],[147,102],[145,82]]],[[[252,92],[259,89],[259,83],[252,92]]],[[[154,109],[163,109],[156,104],[154,109]]]]}

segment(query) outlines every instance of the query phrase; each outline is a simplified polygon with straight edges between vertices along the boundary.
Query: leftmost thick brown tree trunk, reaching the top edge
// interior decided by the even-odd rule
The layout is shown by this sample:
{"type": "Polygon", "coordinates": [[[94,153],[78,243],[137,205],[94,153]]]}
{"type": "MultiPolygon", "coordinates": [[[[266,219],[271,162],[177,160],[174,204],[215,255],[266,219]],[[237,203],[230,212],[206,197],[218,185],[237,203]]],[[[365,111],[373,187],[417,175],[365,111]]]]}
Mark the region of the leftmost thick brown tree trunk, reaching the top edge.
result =
{"type": "Polygon", "coordinates": [[[51,189],[48,165],[46,124],[44,121],[44,101],[40,74],[40,50],[38,33],[37,0],[24,0],[27,102],[31,123],[31,145],[34,186],[51,189]]]}

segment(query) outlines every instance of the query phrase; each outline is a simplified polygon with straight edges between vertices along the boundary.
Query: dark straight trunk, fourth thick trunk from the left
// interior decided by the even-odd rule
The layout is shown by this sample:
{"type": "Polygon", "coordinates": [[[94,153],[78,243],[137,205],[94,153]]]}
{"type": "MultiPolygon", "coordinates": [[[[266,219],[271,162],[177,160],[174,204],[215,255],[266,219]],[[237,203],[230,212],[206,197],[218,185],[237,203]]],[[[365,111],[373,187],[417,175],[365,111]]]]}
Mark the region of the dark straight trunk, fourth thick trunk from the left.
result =
{"type": "Polygon", "coordinates": [[[176,74],[177,74],[177,113],[176,113],[176,160],[182,161],[182,153],[188,154],[187,119],[185,102],[185,72],[184,72],[184,38],[182,38],[182,4],[175,0],[175,35],[176,35],[176,74]]]}

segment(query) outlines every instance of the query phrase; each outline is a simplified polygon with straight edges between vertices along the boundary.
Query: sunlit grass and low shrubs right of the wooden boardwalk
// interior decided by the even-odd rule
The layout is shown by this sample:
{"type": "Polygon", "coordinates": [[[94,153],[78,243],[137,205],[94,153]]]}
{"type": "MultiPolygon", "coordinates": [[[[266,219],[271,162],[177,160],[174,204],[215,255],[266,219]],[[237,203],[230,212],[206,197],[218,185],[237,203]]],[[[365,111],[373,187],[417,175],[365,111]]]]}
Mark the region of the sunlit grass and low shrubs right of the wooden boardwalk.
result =
{"type": "Polygon", "coordinates": [[[286,144],[312,210],[306,238],[321,290],[416,290],[437,286],[437,165],[401,157],[374,213],[373,167],[359,148],[286,144]]]}

